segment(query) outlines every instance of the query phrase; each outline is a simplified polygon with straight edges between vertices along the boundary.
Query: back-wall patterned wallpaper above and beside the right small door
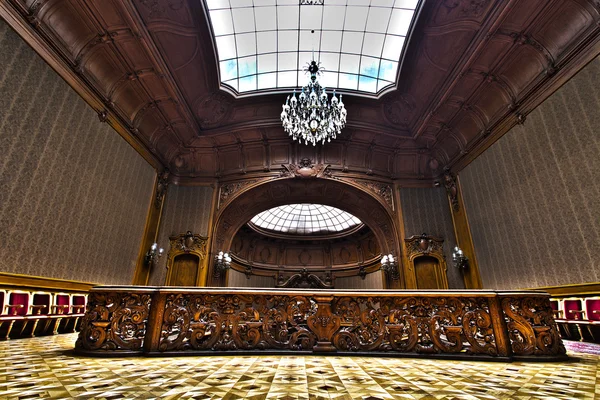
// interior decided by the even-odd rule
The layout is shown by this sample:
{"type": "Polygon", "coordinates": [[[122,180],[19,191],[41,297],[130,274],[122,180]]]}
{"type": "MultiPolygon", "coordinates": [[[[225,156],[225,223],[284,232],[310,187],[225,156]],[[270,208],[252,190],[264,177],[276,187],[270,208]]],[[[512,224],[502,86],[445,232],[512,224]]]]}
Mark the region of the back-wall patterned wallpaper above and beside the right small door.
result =
{"type": "Polygon", "coordinates": [[[444,239],[448,288],[464,289],[460,271],[452,266],[452,248],[456,245],[450,206],[444,188],[400,189],[406,237],[427,233],[444,239]]]}

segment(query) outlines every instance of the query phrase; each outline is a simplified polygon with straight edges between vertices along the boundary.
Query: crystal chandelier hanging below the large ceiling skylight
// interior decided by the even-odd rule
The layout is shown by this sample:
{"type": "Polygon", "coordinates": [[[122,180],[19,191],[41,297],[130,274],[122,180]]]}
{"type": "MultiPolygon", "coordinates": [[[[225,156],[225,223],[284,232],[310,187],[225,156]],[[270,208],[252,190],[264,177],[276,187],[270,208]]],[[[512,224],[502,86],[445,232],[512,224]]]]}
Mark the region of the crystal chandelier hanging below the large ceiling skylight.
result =
{"type": "Polygon", "coordinates": [[[317,81],[319,66],[314,60],[307,70],[310,72],[310,81],[299,96],[296,97],[294,90],[292,96],[287,97],[281,122],[283,129],[294,140],[304,140],[304,144],[312,143],[315,146],[317,142],[331,142],[340,134],[346,126],[346,108],[342,95],[338,100],[335,90],[329,101],[325,88],[317,81]]]}

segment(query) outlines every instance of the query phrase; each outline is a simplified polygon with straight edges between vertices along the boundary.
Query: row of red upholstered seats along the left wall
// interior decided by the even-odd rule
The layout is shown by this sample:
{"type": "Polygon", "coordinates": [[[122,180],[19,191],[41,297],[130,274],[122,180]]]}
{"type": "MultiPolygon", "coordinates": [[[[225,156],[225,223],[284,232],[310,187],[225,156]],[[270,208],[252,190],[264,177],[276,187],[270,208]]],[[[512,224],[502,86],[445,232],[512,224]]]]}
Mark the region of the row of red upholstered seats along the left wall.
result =
{"type": "Polygon", "coordinates": [[[0,288],[0,340],[79,330],[87,294],[0,288]]]}

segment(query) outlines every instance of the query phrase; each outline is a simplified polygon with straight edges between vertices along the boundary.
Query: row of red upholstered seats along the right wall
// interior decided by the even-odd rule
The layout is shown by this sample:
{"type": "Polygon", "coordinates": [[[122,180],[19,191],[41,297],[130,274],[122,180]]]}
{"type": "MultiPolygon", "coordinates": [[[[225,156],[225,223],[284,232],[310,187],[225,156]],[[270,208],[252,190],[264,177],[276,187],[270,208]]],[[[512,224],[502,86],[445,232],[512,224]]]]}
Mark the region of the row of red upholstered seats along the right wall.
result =
{"type": "Polygon", "coordinates": [[[553,297],[550,304],[563,339],[600,343],[600,297],[553,297]]]}

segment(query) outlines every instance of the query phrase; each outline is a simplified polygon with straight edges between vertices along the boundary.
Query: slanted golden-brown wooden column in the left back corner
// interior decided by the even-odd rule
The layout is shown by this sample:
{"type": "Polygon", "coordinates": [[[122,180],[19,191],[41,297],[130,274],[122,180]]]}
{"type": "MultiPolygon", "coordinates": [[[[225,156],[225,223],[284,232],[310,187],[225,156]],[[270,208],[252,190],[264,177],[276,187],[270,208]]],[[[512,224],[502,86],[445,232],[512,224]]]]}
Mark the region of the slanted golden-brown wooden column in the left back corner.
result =
{"type": "MultiPolygon", "coordinates": [[[[146,217],[146,227],[144,228],[144,236],[140,251],[138,253],[137,264],[133,276],[134,285],[147,285],[150,278],[150,265],[146,262],[146,252],[158,239],[158,228],[162,216],[167,188],[169,186],[169,170],[164,169],[162,172],[157,172],[152,198],[150,199],[150,207],[146,217]]],[[[156,268],[156,266],[154,266],[156,268]]]]}

